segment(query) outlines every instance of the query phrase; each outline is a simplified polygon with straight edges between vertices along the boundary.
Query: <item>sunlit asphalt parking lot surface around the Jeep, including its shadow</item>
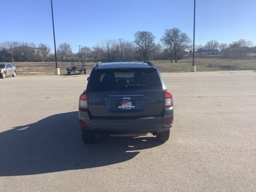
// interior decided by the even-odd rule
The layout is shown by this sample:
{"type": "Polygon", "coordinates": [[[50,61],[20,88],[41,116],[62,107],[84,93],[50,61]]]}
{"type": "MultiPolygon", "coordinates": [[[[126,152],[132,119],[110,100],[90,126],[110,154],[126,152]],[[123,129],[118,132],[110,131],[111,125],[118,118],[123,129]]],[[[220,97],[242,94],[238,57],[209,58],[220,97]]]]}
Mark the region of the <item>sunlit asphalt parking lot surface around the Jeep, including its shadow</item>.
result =
{"type": "Polygon", "coordinates": [[[256,191],[256,72],[163,73],[168,142],[82,142],[88,75],[0,79],[0,191],[256,191]]]}

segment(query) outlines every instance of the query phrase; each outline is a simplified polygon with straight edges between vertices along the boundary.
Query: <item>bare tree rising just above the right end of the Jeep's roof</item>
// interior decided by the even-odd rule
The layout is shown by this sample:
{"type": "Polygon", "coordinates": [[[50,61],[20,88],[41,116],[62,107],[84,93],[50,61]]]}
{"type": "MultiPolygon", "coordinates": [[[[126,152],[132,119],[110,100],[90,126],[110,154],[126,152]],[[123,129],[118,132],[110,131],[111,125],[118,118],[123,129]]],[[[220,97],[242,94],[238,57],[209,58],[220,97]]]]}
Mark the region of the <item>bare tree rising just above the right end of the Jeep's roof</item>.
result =
{"type": "Polygon", "coordinates": [[[149,52],[159,49],[154,40],[155,36],[149,31],[138,31],[134,34],[134,43],[137,50],[142,54],[144,61],[147,60],[149,52]]]}

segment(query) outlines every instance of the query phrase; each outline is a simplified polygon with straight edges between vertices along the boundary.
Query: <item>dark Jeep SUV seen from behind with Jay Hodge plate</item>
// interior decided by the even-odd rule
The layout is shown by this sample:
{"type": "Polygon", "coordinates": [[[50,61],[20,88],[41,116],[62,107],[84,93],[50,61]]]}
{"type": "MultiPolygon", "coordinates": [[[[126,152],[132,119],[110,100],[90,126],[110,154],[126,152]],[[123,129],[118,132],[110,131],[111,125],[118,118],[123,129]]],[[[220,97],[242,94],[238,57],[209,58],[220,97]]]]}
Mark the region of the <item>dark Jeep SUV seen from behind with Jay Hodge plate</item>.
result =
{"type": "Polygon", "coordinates": [[[173,123],[172,94],[151,62],[99,62],[79,98],[79,122],[85,143],[102,133],[152,133],[165,142],[173,123]]]}

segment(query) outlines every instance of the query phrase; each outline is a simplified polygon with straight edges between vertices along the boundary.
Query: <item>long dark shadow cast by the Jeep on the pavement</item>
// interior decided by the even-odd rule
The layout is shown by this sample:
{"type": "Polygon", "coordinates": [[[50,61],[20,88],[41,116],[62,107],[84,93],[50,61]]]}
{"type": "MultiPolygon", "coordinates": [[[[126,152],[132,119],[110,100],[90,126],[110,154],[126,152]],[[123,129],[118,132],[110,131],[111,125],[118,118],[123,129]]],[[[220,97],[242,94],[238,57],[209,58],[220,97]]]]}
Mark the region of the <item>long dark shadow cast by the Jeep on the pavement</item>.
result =
{"type": "Polygon", "coordinates": [[[78,112],[55,114],[0,133],[0,176],[42,174],[124,162],[161,145],[154,137],[100,136],[84,144],[78,112]]]}

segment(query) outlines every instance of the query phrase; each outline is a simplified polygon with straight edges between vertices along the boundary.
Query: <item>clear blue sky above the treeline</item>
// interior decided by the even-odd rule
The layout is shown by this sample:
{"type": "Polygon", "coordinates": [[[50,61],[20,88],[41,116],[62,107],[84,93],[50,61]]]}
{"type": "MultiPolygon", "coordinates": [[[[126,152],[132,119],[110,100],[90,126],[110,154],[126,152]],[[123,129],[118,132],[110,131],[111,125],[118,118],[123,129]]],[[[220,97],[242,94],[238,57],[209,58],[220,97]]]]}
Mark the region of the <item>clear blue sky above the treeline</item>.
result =
{"type": "MultiPolygon", "coordinates": [[[[158,42],[166,28],[193,36],[193,0],[53,0],[56,44],[94,46],[102,40],[133,40],[147,30],[158,42]]],[[[0,42],[43,42],[54,50],[50,0],[1,0],[0,42]]],[[[196,0],[196,43],[239,38],[256,45],[255,0],[196,0]]]]}

